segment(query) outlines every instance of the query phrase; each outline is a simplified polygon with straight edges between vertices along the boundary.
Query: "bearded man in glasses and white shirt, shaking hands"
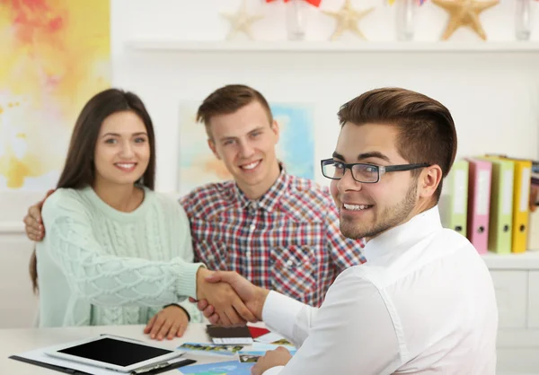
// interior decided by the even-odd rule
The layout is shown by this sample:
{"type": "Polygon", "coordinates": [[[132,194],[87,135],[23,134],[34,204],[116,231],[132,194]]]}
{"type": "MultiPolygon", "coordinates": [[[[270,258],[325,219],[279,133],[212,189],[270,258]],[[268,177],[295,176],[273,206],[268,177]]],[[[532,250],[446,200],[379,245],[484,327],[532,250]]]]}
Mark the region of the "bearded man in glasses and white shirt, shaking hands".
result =
{"type": "MultiPolygon", "coordinates": [[[[456,153],[448,109],[379,89],[339,111],[340,136],[322,161],[340,231],[367,239],[367,263],[331,285],[320,309],[219,272],[252,313],[297,345],[267,353],[254,375],[494,375],[498,310],[473,245],[442,228],[437,202],[456,153]]],[[[219,317],[206,301],[199,309],[219,317]]]]}

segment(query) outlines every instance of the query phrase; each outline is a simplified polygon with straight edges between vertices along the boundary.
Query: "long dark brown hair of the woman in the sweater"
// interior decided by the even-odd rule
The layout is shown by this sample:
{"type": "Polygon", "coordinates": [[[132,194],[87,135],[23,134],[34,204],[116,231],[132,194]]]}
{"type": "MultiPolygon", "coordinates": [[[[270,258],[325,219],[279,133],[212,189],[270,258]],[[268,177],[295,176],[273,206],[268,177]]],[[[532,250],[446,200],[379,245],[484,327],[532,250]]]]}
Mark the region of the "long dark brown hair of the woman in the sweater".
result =
{"type": "MultiPolygon", "coordinates": [[[[93,185],[95,168],[93,154],[105,118],[113,113],[131,111],[144,122],[150,145],[150,161],[142,177],[142,185],[155,187],[155,134],[152,119],[142,100],[132,92],[108,89],[94,95],[85,105],[75,122],[66,156],[66,165],[57,188],[85,188],[93,185]]],[[[38,291],[38,262],[34,249],[30,259],[30,276],[34,292],[38,291]]]]}

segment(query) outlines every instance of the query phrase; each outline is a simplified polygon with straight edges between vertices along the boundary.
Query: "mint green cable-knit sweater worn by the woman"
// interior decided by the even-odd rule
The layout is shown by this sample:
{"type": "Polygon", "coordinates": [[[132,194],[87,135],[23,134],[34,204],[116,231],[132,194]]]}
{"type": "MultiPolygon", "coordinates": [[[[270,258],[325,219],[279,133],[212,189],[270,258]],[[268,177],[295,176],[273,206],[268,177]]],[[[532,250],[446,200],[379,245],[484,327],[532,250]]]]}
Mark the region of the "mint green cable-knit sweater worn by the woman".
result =
{"type": "Polygon", "coordinates": [[[58,189],[42,210],[37,244],[40,327],[146,324],[179,303],[191,321],[199,311],[190,226],[181,205],[145,188],[131,213],[119,212],[93,188],[58,189]]]}

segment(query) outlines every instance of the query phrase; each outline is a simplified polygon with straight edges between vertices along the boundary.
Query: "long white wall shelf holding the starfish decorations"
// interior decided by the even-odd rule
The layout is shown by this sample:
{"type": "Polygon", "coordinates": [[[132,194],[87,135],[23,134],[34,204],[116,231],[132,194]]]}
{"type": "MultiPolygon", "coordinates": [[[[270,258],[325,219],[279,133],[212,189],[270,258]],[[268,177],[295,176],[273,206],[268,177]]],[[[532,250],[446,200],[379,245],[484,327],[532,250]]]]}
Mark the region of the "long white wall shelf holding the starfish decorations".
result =
{"type": "Polygon", "coordinates": [[[177,52],[524,52],[539,53],[539,42],[358,42],[339,41],[190,41],[135,39],[127,47],[138,51],[177,52]]]}

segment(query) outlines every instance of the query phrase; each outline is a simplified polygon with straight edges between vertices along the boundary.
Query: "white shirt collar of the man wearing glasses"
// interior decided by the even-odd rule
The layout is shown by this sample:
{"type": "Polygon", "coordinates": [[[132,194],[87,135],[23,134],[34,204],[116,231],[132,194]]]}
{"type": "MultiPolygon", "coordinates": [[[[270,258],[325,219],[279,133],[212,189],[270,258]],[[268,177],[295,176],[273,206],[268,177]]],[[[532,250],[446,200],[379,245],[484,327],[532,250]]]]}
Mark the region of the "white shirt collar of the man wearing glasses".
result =
{"type": "Polygon", "coordinates": [[[413,245],[427,238],[432,232],[441,230],[442,223],[438,206],[415,215],[410,221],[404,222],[376,238],[369,240],[364,249],[367,263],[380,257],[391,257],[395,253],[410,249],[413,245]]]}

